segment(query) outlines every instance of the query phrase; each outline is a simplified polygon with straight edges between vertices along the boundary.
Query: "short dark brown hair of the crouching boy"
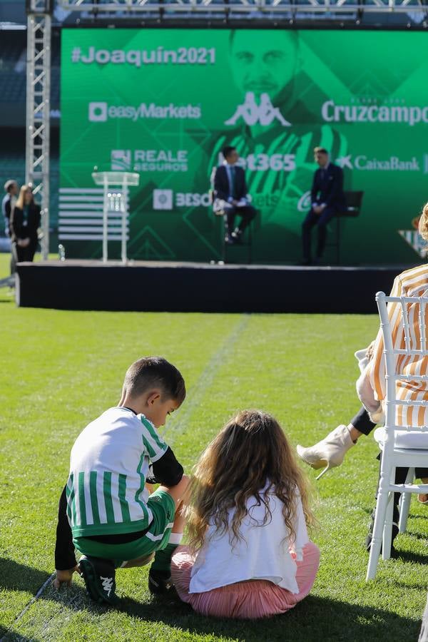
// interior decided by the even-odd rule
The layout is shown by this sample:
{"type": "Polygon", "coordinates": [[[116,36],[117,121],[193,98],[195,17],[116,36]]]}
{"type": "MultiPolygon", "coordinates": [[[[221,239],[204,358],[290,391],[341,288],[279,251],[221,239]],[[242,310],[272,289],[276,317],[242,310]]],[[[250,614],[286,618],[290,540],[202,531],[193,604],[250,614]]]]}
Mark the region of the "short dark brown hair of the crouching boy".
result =
{"type": "Polygon", "coordinates": [[[182,404],[184,379],[179,370],[163,357],[141,357],[126,371],[123,387],[131,397],[139,397],[151,388],[160,388],[162,397],[182,404]]]}

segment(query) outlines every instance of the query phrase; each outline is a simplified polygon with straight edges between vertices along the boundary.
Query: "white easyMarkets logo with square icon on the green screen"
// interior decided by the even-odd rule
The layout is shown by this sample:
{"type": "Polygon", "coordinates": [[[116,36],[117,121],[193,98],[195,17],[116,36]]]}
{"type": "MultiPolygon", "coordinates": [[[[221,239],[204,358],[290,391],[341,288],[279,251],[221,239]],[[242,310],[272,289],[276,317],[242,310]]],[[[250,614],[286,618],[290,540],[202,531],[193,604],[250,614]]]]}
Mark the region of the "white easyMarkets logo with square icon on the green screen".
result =
{"type": "Polygon", "coordinates": [[[128,119],[133,122],[139,118],[170,118],[184,121],[198,120],[201,116],[199,105],[178,106],[173,103],[161,106],[156,103],[140,103],[137,107],[131,105],[108,105],[106,102],[88,104],[88,121],[91,123],[106,123],[110,119],[128,119]]]}

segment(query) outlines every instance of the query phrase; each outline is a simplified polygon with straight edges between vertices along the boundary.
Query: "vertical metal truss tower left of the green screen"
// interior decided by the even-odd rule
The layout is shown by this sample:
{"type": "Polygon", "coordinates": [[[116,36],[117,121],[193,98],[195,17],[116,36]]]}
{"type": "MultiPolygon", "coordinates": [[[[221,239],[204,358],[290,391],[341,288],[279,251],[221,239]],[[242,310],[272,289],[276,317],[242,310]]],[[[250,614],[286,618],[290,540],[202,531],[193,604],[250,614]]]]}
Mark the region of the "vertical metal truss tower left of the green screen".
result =
{"type": "Polygon", "coordinates": [[[43,258],[49,253],[49,111],[51,16],[46,0],[30,0],[27,19],[26,183],[41,199],[43,258]]]}

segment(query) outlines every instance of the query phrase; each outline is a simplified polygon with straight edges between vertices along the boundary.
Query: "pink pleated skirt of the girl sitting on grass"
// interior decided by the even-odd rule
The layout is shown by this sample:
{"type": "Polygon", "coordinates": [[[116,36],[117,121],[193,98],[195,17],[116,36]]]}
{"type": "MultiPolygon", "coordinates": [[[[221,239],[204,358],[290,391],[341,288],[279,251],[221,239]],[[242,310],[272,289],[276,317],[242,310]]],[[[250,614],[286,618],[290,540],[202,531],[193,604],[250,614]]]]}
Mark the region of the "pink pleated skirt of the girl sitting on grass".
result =
{"type": "Polygon", "coordinates": [[[298,593],[267,580],[250,580],[213,588],[205,593],[189,593],[190,572],[193,557],[188,546],[178,546],[171,564],[171,576],[178,595],[201,615],[218,618],[256,619],[286,613],[307,596],[312,588],[318,566],[320,551],[308,542],[303,549],[302,561],[296,562],[298,593]]]}

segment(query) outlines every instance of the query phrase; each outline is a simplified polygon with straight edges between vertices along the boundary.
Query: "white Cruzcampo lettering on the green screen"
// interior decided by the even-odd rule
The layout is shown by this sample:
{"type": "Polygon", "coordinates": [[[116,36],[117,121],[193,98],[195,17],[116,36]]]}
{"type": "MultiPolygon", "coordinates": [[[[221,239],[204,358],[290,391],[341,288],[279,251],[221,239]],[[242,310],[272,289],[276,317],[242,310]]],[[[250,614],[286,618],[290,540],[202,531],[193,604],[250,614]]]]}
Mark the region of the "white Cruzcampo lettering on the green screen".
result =
{"type": "Polygon", "coordinates": [[[322,104],[321,115],[326,123],[428,123],[428,106],[403,105],[336,105],[322,104]]]}

